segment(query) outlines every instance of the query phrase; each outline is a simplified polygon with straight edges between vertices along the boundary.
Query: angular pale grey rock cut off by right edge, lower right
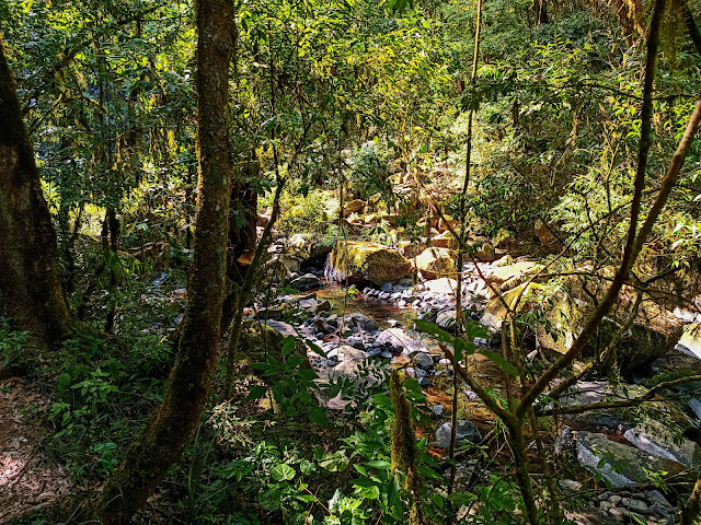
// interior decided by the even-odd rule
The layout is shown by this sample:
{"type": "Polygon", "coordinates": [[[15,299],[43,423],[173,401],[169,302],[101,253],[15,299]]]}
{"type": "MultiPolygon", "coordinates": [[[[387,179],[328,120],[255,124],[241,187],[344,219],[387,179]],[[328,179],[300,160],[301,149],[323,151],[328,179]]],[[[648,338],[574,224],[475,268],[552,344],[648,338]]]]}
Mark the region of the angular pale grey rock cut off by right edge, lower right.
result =
{"type": "Polygon", "coordinates": [[[623,436],[643,452],[671,459],[687,467],[701,465],[701,447],[693,441],[674,435],[659,423],[628,430],[623,436]]]}

